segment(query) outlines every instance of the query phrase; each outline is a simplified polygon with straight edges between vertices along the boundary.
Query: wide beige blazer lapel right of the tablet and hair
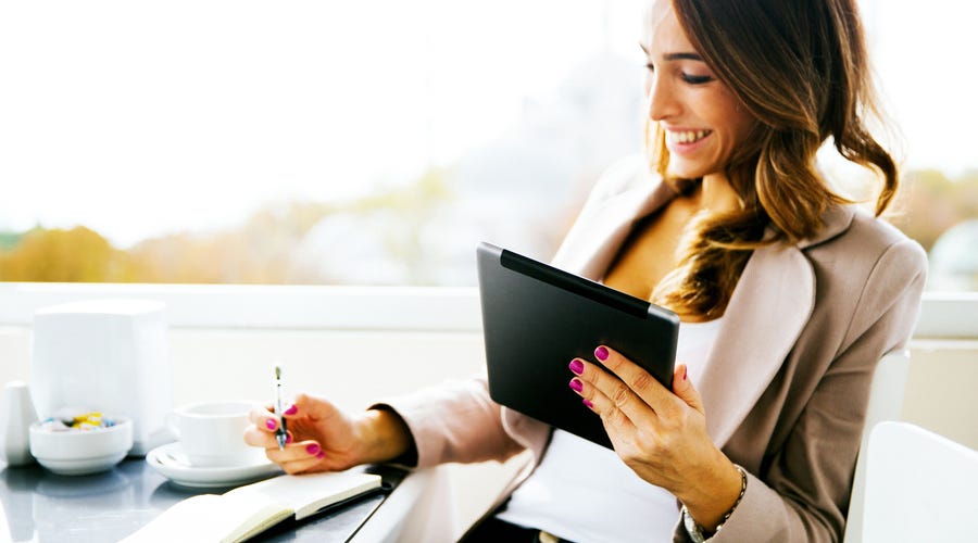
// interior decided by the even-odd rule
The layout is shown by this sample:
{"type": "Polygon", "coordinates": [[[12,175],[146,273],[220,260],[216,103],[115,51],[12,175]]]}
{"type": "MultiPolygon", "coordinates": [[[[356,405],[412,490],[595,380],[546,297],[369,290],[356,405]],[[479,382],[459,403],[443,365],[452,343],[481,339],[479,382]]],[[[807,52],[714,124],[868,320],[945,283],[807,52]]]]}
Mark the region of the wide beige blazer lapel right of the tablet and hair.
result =
{"type": "Polygon", "coordinates": [[[815,305],[815,272],[794,245],[754,251],[734,290],[702,382],[706,430],[724,446],[770,383],[815,305]]]}

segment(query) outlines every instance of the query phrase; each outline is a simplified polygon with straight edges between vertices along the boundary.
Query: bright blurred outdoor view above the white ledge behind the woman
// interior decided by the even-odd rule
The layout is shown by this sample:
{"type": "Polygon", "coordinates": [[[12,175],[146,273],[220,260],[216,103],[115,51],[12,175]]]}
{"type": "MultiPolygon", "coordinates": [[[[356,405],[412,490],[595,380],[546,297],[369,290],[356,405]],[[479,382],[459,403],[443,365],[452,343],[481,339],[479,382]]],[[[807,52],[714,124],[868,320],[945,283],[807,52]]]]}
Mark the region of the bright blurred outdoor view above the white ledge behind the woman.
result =
{"type": "MultiPolygon", "coordinates": [[[[898,225],[944,266],[938,237],[978,217],[978,81],[955,54],[974,9],[864,4],[907,141],[898,225]]],[[[548,258],[640,150],[640,11],[4,2],[0,279],[472,285],[479,240],[548,258]]],[[[935,288],[978,289],[967,274],[935,288]]]]}

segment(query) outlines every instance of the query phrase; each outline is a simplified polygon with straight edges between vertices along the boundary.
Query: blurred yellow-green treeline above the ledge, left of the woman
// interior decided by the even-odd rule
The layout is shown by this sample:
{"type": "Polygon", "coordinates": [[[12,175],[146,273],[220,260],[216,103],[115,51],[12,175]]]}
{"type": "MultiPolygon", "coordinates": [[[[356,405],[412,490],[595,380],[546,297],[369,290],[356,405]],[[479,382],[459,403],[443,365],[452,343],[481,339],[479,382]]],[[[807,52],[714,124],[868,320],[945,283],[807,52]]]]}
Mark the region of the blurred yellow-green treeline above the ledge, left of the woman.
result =
{"type": "Polygon", "coordinates": [[[391,210],[404,236],[388,243],[394,257],[418,260],[416,231],[447,194],[439,171],[416,182],[344,203],[286,202],[256,211],[240,228],[181,232],[118,250],[99,233],[34,228],[0,233],[0,280],[64,282],[322,283],[297,275],[296,248],[325,217],[391,210]],[[404,240],[408,240],[404,243],[404,240]]]}

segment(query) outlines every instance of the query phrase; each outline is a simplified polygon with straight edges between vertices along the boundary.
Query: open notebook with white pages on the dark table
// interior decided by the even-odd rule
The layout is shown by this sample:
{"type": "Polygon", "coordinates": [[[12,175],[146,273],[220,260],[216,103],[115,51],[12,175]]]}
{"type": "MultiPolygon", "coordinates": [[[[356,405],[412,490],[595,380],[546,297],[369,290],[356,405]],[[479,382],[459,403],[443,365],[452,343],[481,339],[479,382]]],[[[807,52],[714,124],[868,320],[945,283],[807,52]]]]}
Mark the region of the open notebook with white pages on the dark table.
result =
{"type": "Polygon", "coordinates": [[[284,475],[224,494],[188,497],[123,541],[244,541],[288,518],[302,520],[375,490],[380,482],[380,476],[362,471],[284,475]]]}

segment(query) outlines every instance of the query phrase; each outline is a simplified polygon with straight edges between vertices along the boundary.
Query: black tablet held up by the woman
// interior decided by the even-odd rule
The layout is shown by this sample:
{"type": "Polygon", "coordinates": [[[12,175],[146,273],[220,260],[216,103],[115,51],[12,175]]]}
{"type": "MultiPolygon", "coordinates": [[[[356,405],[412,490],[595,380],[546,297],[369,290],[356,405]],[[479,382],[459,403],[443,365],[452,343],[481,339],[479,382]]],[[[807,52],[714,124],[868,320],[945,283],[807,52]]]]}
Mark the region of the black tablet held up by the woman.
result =
{"type": "Polygon", "coordinates": [[[573,358],[598,363],[604,344],[672,390],[675,313],[489,243],[477,264],[494,402],[611,449],[601,418],[567,386],[573,358]]]}

